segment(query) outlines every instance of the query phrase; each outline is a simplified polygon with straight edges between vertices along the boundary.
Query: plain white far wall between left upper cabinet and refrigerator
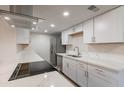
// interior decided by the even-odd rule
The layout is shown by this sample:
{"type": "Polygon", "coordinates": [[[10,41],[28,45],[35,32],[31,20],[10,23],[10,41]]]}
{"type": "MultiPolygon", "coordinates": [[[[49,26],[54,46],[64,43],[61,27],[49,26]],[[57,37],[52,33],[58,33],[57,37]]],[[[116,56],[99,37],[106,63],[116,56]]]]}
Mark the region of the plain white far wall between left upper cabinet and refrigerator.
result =
{"type": "Polygon", "coordinates": [[[31,46],[43,59],[50,62],[50,35],[31,33],[31,46]]]}

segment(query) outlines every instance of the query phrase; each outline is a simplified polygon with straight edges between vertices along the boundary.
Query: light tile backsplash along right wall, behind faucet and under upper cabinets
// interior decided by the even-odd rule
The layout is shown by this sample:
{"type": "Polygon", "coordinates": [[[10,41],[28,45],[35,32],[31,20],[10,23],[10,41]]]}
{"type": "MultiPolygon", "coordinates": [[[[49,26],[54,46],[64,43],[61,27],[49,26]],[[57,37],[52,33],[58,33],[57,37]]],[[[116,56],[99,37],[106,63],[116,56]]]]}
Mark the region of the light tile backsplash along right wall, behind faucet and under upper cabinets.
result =
{"type": "Polygon", "coordinates": [[[94,57],[103,60],[116,62],[124,61],[124,44],[84,44],[82,36],[73,36],[71,39],[72,46],[66,46],[66,50],[73,50],[75,46],[79,47],[82,55],[94,57]]]}

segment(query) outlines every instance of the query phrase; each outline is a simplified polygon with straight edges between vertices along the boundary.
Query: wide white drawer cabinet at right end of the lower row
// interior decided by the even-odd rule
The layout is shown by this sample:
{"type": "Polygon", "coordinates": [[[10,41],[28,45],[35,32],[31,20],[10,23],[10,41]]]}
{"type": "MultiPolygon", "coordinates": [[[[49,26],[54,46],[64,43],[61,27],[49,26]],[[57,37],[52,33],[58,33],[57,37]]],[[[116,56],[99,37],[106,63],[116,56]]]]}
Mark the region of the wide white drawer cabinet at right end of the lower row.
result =
{"type": "Polygon", "coordinates": [[[88,65],[88,87],[117,86],[117,73],[98,66],[88,65]]]}

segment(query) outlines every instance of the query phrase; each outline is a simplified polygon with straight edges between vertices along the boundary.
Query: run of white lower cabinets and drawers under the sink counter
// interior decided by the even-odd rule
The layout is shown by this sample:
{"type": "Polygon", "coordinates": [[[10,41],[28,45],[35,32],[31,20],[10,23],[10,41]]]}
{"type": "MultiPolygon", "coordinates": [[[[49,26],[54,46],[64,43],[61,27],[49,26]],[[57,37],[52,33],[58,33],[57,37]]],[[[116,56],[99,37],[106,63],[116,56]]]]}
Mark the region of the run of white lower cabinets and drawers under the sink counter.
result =
{"type": "Polygon", "coordinates": [[[81,87],[124,86],[123,74],[67,57],[63,57],[63,73],[81,87]]]}

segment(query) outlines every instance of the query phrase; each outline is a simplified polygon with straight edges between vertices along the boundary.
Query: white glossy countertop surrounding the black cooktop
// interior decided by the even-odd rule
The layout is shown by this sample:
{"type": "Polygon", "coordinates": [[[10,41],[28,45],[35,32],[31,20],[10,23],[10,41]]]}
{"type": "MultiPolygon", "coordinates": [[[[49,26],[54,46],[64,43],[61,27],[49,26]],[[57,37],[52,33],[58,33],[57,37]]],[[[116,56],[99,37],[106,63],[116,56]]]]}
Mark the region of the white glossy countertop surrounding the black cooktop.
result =
{"type": "Polygon", "coordinates": [[[18,63],[29,63],[44,61],[30,47],[17,54],[17,61],[12,63],[0,63],[0,87],[73,87],[74,85],[66,80],[57,71],[29,76],[13,81],[8,81],[18,63]]]}

